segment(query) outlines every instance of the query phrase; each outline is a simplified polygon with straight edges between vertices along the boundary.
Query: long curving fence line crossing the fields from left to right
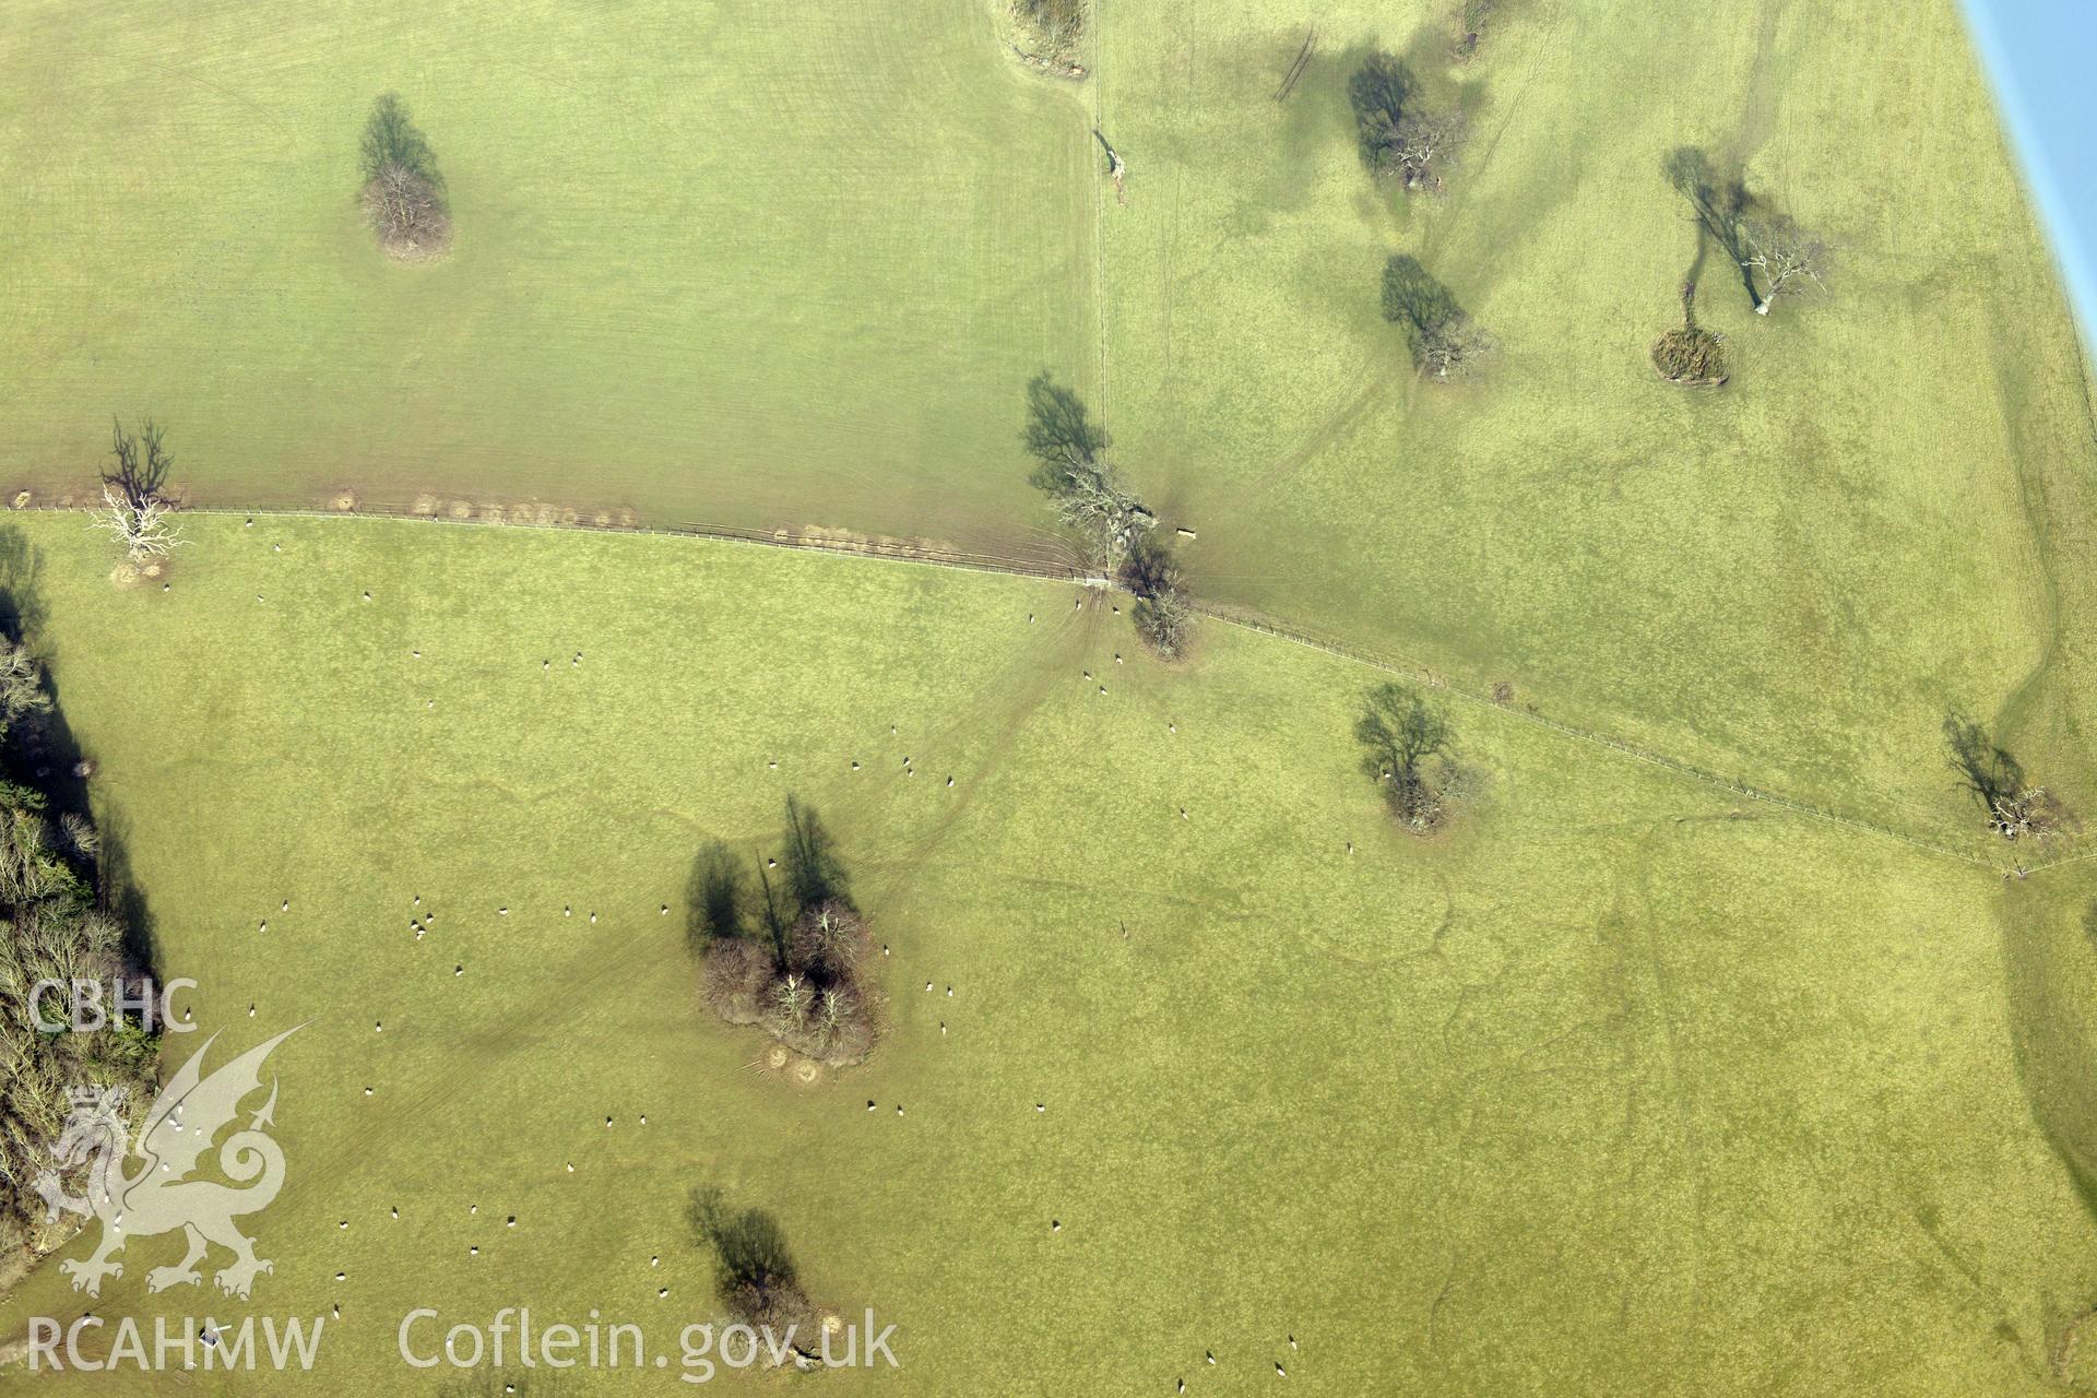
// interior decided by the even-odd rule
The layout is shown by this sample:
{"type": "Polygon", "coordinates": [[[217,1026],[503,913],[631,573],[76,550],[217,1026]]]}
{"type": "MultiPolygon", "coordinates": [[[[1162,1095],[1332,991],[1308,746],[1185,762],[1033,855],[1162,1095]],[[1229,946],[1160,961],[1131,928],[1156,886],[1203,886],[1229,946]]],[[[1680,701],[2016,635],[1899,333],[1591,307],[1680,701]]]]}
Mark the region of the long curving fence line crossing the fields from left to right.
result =
{"type": "MultiPolygon", "coordinates": [[[[80,505],[42,505],[42,503],[21,505],[19,511],[88,514],[88,509],[80,507],[80,505]]],[[[482,514],[453,516],[453,514],[445,514],[445,511],[432,514],[432,511],[403,509],[403,507],[371,507],[371,505],[363,505],[363,503],[359,503],[354,509],[315,509],[315,507],[239,509],[239,507],[229,507],[229,505],[187,505],[182,509],[182,514],[220,516],[220,518],[258,518],[258,516],[260,518],[308,518],[308,520],[384,518],[384,520],[401,520],[401,522],[449,524],[449,526],[480,526],[480,528],[528,528],[528,530],[545,530],[545,532],[562,532],[562,530],[566,530],[566,532],[596,532],[596,534],[650,534],[650,537],[665,537],[665,539],[709,539],[709,541],[717,541],[717,543],[744,543],[744,545],[757,545],[757,547],[770,547],[770,549],[788,549],[788,551],[801,551],[801,553],[828,553],[828,555],[839,555],[839,558],[874,558],[874,560],[887,560],[887,562],[900,562],[900,564],[916,564],[916,566],[931,566],[931,568],[954,568],[954,570],[963,570],[963,572],[992,572],[992,574],[1019,576],[1019,578],[1042,578],[1042,581],[1051,581],[1051,583],[1074,583],[1078,587],[1090,587],[1090,589],[1126,591],[1120,585],[1120,581],[1111,578],[1109,574],[1103,574],[1103,572],[1093,570],[1093,568],[1080,568],[1076,564],[1055,564],[1055,562],[1046,562],[1046,560],[1023,560],[1023,558],[1009,558],[1009,555],[998,555],[998,553],[973,553],[973,551],[963,551],[963,549],[935,549],[935,547],[929,547],[929,545],[923,545],[923,543],[910,543],[910,541],[826,539],[826,537],[797,534],[797,532],[786,530],[786,528],[759,530],[759,528],[742,528],[742,526],[734,526],[734,524],[700,524],[700,522],[682,522],[682,524],[625,524],[625,522],[598,522],[593,518],[581,518],[581,516],[577,516],[577,518],[549,518],[543,511],[535,511],[533,516],[497,514],[497,511],[499,511],[499,507],[491,507],[489,511],[482,511],[482,514]]],[[[1862,834],[1875,834],[1875,836],[1881,836],[1881,838],[1898,840],[1902,845],[1908,845],[1912,849],[1921,849],[1921,851],[1931,853],[1931,855],[1940,855],[1944,859],[1957,859],[1961,864],[1971,864],[1971,866],[1990,868],[1990,870],[2001,870],[2003,868],[2001,859],[1990,859],[1990,857],[1986,857],[1982,853],[1975,853],[1973,849],[1961,849],[1957,845],[1944,845],[1944,843],[1938,843],[1938,840],[1929,840],[1929,838],[1910,834],[1906,830],[1896,830],[1894,826],[1885,826],[1885,824],[1879,824],[1879,822],[1873,822],[1873,820],[1864,820],[1860,815],[1845,815],[1845,813],[1835,811],[1831,807],[1814,805],[1810,801],[1799,801],[1797,796],[1787,796],[1785,792],[1776,792],[1776,790],[1770,790],[1766,786],[1755,786],[1755,784],[1743,782],[1738,778],[1722,776],[1717,771],[1711,771],[1709,767],[1701,767],[1701,765],[1690,763],[1686,759],[1671,757],[1667,752],[1659,752],[1659,750],[1640,746],[1636,742],[1627,742],[1623,738],[1613,738],[1610,734],[1604,734],[1604,731],[1598,731],[1598,729],[1592,729],[1592,727],[1581,727],[1577,723],[1564,723],[1562,719],[1552,719],[1552,717],[1548,717],[1543,713],[1537,713],[1531,706],[1504,704],[1504,702],[1499,702],[1499,700],[1495,700],[1495,698],[1491,698],[1487,694],[1478,694],[1478,692],[1468,690],[1464,685],[1451,683],[1449,677],[1436,673],[1432,667],[1428,667],[1428,664],[1424,664],[1420,660],[1413,660],[1413,658],[1378,656],[1378,654],[1371,654],[1371,652],[1367,652],[1367,650],[1363,650],[1359,646],[1350,646],[1346,641],[1336,641],[1336,639],[1329,639],[1329,637],[1313,635],[1309,631],[1302,631],[1298,627],[1290,627],[1285,622],[1273,620],[1269,616],[1262,616],[1262,614],[1246,610],[1246,608],[1227,608],[1227,606],[1218,606],[1218,604],[1197,602],[1193,610],[1197,614],[1208,616],[1210,620],[1223,622],[1227,627],[1237,627],[1241,631],[1250,631],[1250,633],[1256,633],[1256,635],[1267,635],[1267,637],[1273,637],[1277,641],[1285,641],[1290,646],[1302,646],[1306,650],[1317,650],[1317,652],[1329,654],[1334,658],[1346,660],[1350,664],[1361,664],[1361,667],[1367,667],[1367,669],[1374,669],[1374,671],[1382,671],[1382,673],[1388,673],[1388,675],[1403,675],[1403,677],[1418,679],[1420,683],[1424,683],[1424,685],[1428,685],[1432,690],[1439,690],[1443,694],[1449,694],[1451,698],[1457,698],[1457,700],[1462,700],[1466,704],[1478,704],[1483,708],[1491,708],[1491,711],[1508,715],[1512,719],[1520,719],[1522,723],[1533,723],[1537,727],[1550,729],[1550,731],[1560,734],[1564,738],[1571,738],[1575,742],[1583,742],[1583,744],[1590,744],[1590,746],[1596,746],[1596,748],[1606,748],[1606,750],[1617,752],[1621,757],[1627,757],[1631,761],[1646,763],[1650,767],[1659,767],[1661,771],[1671,771],[1671,773],[1688,778],[1692,782],[1701,782],[1701,784],[1707,784],[1707,786],[1715,786],[1720,790],[1728,790],[1728,792],[1732,792],[1732,794],[1736,794],[1736,796],[1741,796],[1745,801],[1757,801],[1757,803],[1764,803],[1764,805],[1774,805],[1778,809],[1793,811],[1793,813],[1806,815],[1810,820],[1818,820],[1818,822],[1824,822],[1824,824],[1841,826],[1841,828],[1856,830],[1856,832],[1862,832],[1862,834]]],[[[2053,859],[2038,859],[2038,861],[2032,861],[2032,864],[2024,864],[2022,859],[2013,861],[2013,864],[2015,864],[2015,872],[2019,876],[2028,876],[2028,874],[2036,874],[2036,872],[2042,872],[2042,870],[2049,870],[2049,868],[2055,868],[2055,866],[2082,864],[2087,859],[2097,859],[2097,849],[2082,849],[2082,851],[2076,851],[2076,853],[2061,853],[2061,855],[2057,855],[2053,859]]]]}

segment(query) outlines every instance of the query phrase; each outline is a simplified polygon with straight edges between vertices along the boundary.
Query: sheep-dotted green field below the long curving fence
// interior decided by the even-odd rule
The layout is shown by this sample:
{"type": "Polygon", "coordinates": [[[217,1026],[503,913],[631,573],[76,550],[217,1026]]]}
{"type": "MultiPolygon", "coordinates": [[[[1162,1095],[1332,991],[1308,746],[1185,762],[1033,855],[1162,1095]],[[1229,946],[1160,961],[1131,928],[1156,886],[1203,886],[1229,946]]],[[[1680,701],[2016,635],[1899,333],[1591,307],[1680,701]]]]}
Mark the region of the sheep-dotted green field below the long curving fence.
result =
{"type": "MultiPolygon", "coordinates": [[[[417,1304],[713,1314],[705,1178],[902,1327],[895,1392],[2047,1392],[2097,1287],[2047,1142],[2087,1077],[2036,1119],[2019,1082],[2087,1042],[2070,870],[1732,815],[1489,706],[1483,809],[1422,845],[1355,771],[1374,671],[1118,664],[1063,585],[193,520],[122,593],[73,520],[17,528],[166,968],[233,1040],[315,1021],[256,1310],[342,1306],[317,1392],[401,1379],[417,1304]],[[788,790],[893,945],[891,1037],[818,1088],[747,1067],[682,945],[694,849],[788,790]]],[[[103,1314],[191,1314],[134,1247],[103,1314]]],[[[8,1314],[78,1304],[46,1268],[8,1314]]]]}

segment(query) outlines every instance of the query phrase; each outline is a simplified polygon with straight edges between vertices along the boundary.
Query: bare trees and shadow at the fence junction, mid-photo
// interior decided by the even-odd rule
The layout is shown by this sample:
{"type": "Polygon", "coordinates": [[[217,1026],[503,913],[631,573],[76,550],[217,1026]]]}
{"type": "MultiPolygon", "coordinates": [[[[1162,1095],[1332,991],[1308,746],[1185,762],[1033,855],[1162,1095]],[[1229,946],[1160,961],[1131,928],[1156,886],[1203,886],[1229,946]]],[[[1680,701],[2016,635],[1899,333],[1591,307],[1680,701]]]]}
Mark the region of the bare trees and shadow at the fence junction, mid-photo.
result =
{"type": "Polygon", "coordinates": [[[1084,541],[1086,560],[1114,574],[1137,604],[1137,635],[1164,658],[1185,652],[1193,635],[1193,599],[1172,545],[1158,537],[1158,516],[1107,461],[1107,434],[1084,400],[1046,373],[1028,384],[1028,455],[1034,488],[1055,516],[1084,541]]]}

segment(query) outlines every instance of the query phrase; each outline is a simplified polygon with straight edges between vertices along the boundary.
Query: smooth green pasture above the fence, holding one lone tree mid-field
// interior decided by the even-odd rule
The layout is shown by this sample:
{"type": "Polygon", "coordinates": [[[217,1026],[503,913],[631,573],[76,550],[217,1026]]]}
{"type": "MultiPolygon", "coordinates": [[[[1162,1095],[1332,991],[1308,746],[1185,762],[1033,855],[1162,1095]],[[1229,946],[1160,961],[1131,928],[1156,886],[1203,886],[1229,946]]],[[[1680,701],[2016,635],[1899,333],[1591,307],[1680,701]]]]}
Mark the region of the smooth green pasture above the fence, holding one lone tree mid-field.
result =
{"type": "Polygon", "coordinates": [[[1051,547],[1013,396],[1097,371],[1095,147],[971,2],[27,0],[0,67],[8,493],[155,413],[216,503],[1051,547]],[[388,90],[428,264],[363,222],[388,90]]]}

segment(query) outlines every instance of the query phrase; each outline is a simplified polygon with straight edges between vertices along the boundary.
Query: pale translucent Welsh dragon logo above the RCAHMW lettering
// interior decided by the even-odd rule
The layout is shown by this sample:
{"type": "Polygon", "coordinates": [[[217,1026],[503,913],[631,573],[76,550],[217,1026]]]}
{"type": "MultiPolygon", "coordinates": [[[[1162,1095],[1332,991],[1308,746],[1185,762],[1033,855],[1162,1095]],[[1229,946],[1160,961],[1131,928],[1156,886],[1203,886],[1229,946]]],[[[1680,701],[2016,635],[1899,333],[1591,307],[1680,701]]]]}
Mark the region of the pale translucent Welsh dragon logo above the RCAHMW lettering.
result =
{"type": "Polygon", "coordinates": [[[226,1295],[245,1297],[258,1272],[275,1270],[268,1260],[256,1258],[254,1239],[233,1224],[239,1214],[268,1207],[283,1188],[283,1149],[264,1132],[277,1109],[275,1077],[260,1111],[243,1130],[216,1146],[218,1174],[233,1184],[189,1176],[214,1149],[218,1132],[235,1121],[241,1100],[262,1090],[262,1061],[298,1029],[304,1025],[285,1029],[203,1077],[203,1054],[218,1040],[214,1033],[153,1098],[136,1142],[130,1140],[124,1121],[124,1088],[73,1088],[73,1111],[52,1151],[57,1167],[36,1176],[34,1186],[52,1220],[61,1209],[103,1220],[103,1239],[94,1255],[86,1262],[59,1264],[59,1270],[71,1274],[75,1291],[101,1295],[103,1276],[124,1274],[124,1264],[111,1262],[111,1253],[132,1239],[176,1228],[189,1237],[189,1255],[176,1266],[147,1272],[149,1291],[199,1283],[197,1264],[210,1243],[233,1251],[233,1262],[216,1276],[218,1289],[226,1295]],[[124,1172],[130,1159],[143,1161],[134,1174],[124,1172]],[[61,1172],[71,1174],[82,1165],[86,1165],[86,1195],[69,1195],[61,1172]]]}

